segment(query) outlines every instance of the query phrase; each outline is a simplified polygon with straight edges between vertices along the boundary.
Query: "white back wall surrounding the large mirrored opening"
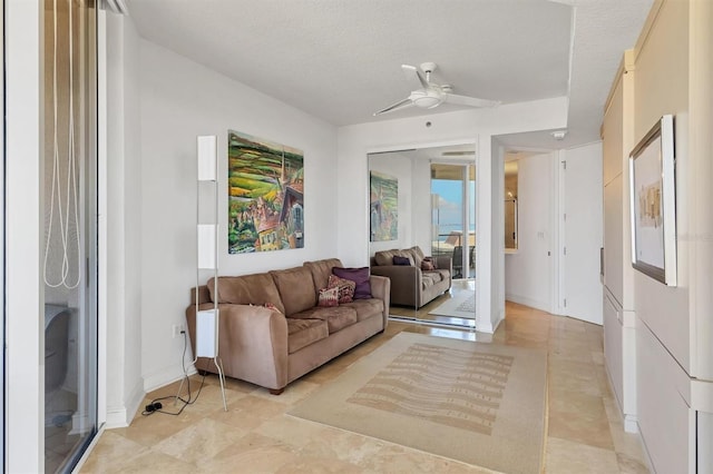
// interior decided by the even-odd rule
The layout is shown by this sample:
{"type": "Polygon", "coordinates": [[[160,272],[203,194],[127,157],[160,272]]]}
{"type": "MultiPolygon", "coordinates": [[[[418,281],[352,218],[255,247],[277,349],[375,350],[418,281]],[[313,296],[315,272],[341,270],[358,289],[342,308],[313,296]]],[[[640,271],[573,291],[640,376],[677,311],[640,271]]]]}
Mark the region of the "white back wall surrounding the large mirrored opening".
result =
{"type": "MultiPolygon", "coordinates": [[[[427,148],[439,145],[476,142],[476,166],[478,175],[490,177],[478,181],[476,196],[476,228],[478,234],[478,258],[476,259],[477,326],[480,330],[492,332],[502,318],[502,305],[491,305],[492,293],[500,295],[501,271],[491,267],[491,255],[497,244],[492,235],[492,176],[494,166],[502,167],[501,157],[494,160],[491,136],[521,131],[555,129],[566,125],[567,101],[565,98],[511,103],[496,109],[475,109],[446,113],[431,113],[389,121],[361,124],[339,129],[339,199],[340,208],[350,209],[349,215],[338,216],[339,254],[345,264],[364,266],[368,264],[369,241],[359,241],[354,236],[368,233],[368,177],[363,172],[364,160],[370,151],[385,151],[408,148],[427,148]],[[426,121],[431,122],[430,127],[426,121]],[[491,233],[484,231],[491,229],[491,233]],[[488,271],[486,271],[486,269],[488,271]],[[496,278],[492,278],[495,271],[496,278]],[[495,286],[491,282],[496,282],[495,286]],[[494,309],[495,308],[495,309],[494,309]]],[[[497,197],[501,201],[501,195],[497,197]]],[[[501,210],[500,210],[501,211],[501,210]]],[[[495,216],[497,218],[497,214],[495,216]]],[[[502,235],[502,229],[499,229],[502,235]]],[[[500,245],[501,247],[501,245],[500,245]]],[[[501,254],[497,258],[502,258],[501,254]]],[[[497,297],[496,297],[497,298],[497,297]]]]}

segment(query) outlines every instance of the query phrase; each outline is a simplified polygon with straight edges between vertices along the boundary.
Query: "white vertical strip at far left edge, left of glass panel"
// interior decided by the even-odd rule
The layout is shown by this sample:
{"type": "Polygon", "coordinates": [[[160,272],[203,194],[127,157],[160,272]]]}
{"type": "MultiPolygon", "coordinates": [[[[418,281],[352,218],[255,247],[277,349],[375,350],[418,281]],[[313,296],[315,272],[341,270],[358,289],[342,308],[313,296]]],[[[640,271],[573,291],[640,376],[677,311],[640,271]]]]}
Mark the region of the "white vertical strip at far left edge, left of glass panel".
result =
{"type": "Polygon", "coordinates": [[[7,472],[45,470],[39,2],[6,0],[7,472]],[[35,315],[35,317],[32,317],[35,315]],[[29,317],[28,317],[29,316],[29,317]],[[11,435],[10,435],[11,434],[11,435]]]}

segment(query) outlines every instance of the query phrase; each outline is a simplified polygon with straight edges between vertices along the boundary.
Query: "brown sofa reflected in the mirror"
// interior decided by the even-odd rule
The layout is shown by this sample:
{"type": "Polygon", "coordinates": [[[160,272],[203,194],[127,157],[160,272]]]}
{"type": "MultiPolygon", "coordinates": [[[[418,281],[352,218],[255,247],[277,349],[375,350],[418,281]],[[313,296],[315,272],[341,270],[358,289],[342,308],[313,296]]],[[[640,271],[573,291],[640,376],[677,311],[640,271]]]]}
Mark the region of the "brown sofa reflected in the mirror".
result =
{"type": "Polygon", "coordinates": [[[418,246],[377,251],[371,258],[371,275],[391,279],[391,303],[394,305],[420,308],[450,289],[452,274],[449,256],[426,257],[418,246]],[[408,265],[395,265],[394,256],[408,258],[408,265]],[[423,260],[431,261],[433,268],[423,260]]]}

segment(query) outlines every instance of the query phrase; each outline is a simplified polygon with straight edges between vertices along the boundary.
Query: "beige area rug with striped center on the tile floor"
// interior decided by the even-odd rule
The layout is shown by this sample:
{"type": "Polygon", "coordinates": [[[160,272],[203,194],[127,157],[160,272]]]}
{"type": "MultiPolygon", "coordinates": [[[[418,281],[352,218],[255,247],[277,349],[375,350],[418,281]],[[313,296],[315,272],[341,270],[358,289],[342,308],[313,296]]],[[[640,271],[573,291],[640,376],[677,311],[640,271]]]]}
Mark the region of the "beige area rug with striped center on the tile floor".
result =
{"type": "Polygon", "coordinates": [[[502,473],[539,473],[545,350],[400,333],[289,414],[502,473]]]}

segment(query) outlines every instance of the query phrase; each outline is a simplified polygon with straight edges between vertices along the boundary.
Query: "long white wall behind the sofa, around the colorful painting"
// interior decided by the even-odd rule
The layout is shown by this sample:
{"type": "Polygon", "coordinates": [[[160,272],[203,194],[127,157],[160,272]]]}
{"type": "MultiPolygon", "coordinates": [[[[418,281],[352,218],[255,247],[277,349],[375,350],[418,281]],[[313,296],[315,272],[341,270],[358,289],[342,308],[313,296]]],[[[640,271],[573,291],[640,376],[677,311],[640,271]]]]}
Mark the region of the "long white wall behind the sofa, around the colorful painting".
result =
{"type": "MultiPolygon", "coordinates": [[[[360,234],[354,235],[365,243],[367,216],[354,215],[353,209],[364,208],[368,200],[360,192],[356,205],[340,203],[342,211],[338,211],[343,190],[333,126],[147,41],[140,42],[140,105],[141,169],[127,179],[141,188],[141,372],[145,388],[150,389],[182,375],[183,339],[172,337],[172,325],[185,324],[189,289],[196,279],[196,136],[218,136],[221,275],[343,257],[336,244],[340,235],[348,243],[355,237],[341,234],[338,224],[340,219],[363,219],[360,234]],[[304,152],[304,248],[227,255],[224,177],[228,129],[304,152]]],[[[362,159],[343,179],[359,177],[365,189],[365,171],[362,159]]],[[[368,249],[359,249],[364,261],[368,249]]],[[[349,264],[351,255],[344,254],[349,264]]]]}

